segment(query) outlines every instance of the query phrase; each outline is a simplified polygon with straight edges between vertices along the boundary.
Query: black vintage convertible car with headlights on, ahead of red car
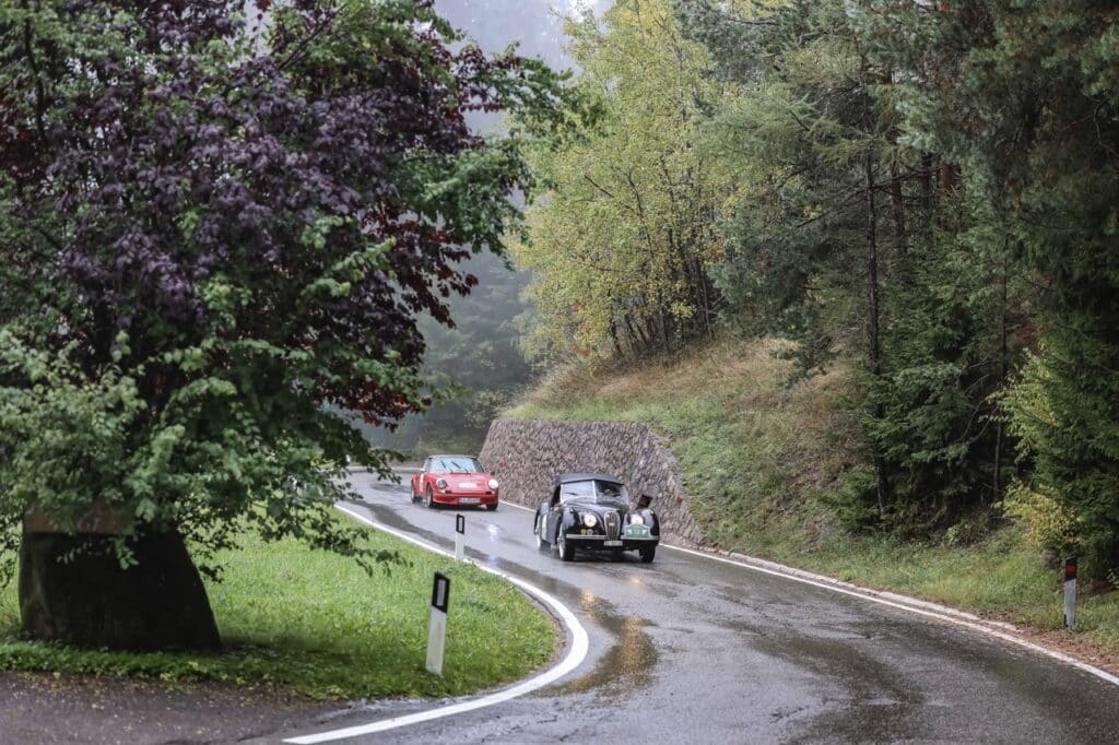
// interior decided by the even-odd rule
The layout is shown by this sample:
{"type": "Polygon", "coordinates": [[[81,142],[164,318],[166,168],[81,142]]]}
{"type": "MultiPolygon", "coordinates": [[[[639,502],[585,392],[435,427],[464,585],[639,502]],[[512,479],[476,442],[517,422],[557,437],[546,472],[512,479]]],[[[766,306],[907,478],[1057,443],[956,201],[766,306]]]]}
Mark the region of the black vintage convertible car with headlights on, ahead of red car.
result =
{"type": "Polygon", "coordinates": [[[660,522],[648,507],[631,508],[626,484],[605,473],[562,473],[552,497],[533,522],[540,550],[556,546],[570,562],[576,550],[609,550],[615,557],[637,550],[649,563],[657,555],[660,522]]]}

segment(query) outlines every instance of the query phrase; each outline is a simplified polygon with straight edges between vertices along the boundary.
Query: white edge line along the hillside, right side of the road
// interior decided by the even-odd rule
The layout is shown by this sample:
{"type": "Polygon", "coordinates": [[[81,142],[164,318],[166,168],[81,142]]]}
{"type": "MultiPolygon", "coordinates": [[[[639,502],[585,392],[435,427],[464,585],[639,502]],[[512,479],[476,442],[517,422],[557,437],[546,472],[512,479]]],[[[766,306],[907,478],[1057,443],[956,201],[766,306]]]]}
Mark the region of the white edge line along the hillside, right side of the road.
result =
{"type": "MultiPolygon", "coordinates": [[[[502,502],[504,504],[509,504],[510,507],[516,507],[529,512],[535,512],[533,508],[525,507],[523,504],[514,504],[513,502],[502,502]]],[[[783,564],[777,564],[775,562],[767,562],[765,559],[759,559],[751,556],[743,556],[742,558],[727,558],[724,556],[717,556],[707,551],[697,551],[692,548],[683,548],[680,546],[673,546],[671,544],[661,544],[665,548],[670,548],[675,551],[681,551],[684,554],[692,554],[693,556],[698,556],[702,558],[712,559],[714,562],[722,562],[724,564],[733,564],[734,566],[741,566],[744,569],[751,569],[752,572],[760,572],[762,574],[769,574],[774,577],[782,577],[784,579],[791,579],[792,582],[799,582],[805,585],[811,585],[814,587],[820,587],[822,590],[830,590],[831,592],[839,593],[843,595],[849,595],[852,597],[861,597],[865,601],[872,603],[877,603],[880,605],[885,605],[887,607],[897,609],[900,611],[905,611],[908,613],[915,613],[918,615],[923,615],[929,619],[937,619],[938,621],[944,621],[947,623],[953,623],[958,626],[963,626],[970,629],[971,631],[977,631],[989,636],[995,636],[1005,642],[1016,644],[1018,647],[1024,647],[1034,652],[1040,652],[1046,657],[1054,660],[1060,660],[1066,664],[1071,664],[1074,668],[1083,670],[1089,675],[1096,676],[1100,680],[1106,680],[1107,682],[1119,686],[1119,677],[1111,675],[1107,670],[1101,670],[1088,662],[1081,662],[1074,657],[1070,657],[1063,652],[1059,652],[1054,649],[1047,647],[1042,647],[1041,644],[1035,644],[1032,641],[1025,640],[1022,636],[1017,636],[1005,631],[999,631],[998,629],[991,628],[991,622],[984,621],[977,615],[971,613],[966,613],[963,611],[958,611],[953,607],[947,607],[943,605],[938,605],[937,603],[930,603],[928,601],[922,601],[916,597],[909,597],[906,595],[899,595],[896,593],[877,593],[873,590],[865,590],[853,585],[850,583],[843,582],[840,579],[833,579],[824,575],[812,574],[805,572],[803,569],[797,569],[796,567],[784,566],[783,564]],[[767,565],[767,566],[761,566],[767,565]],[[894,600],[891,600],[894,598],[894,600]],[[921,607],[916,607],[921,606],[921,607]]],[[[998,624],[1004,628],[1014,626],[1010,624],[998,624]]]]}

